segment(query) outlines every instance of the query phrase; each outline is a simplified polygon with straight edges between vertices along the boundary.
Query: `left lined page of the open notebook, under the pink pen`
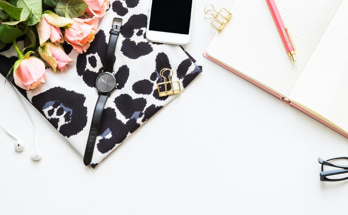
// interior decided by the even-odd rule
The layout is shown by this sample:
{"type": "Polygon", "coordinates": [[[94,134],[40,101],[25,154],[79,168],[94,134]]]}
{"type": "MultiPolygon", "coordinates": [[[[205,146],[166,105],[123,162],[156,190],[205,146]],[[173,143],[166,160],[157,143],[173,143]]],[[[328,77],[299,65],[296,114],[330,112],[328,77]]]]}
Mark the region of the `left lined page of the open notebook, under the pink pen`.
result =
{"type": "Polygon", "coordinates": [[[232,19],[206,52],[261,85],[287,97],[342,0],[277,0],[296,45],[288,57],[266,0],[236,0],[232,19]]]}

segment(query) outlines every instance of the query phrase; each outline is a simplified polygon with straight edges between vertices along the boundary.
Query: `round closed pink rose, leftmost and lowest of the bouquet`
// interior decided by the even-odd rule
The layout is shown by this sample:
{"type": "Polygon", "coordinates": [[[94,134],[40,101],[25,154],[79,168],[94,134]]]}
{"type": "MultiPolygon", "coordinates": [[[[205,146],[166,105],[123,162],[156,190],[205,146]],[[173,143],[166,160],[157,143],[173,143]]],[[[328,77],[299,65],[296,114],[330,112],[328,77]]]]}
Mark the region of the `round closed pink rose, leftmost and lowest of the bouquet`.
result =
{"type": "Polygon", "coordinates": [[[45,64],[36,57],[16,61],[13,77],[18,87],[25,90],[37,88],[46,82],[45,64]]]}

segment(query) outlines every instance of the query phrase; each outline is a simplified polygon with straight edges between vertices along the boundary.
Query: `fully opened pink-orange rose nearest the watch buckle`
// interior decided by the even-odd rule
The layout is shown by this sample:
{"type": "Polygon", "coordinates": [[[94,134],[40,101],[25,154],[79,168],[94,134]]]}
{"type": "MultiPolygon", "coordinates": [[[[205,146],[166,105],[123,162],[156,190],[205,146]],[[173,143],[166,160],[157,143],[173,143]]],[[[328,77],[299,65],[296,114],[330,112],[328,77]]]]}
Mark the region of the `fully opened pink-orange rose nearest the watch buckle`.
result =
{"type": "Polygon", "coordinates": [[[90,42],[94,40],[99,19],[96,16],[89,19],[73,18],[74,22],[65,29],[64,38],[79,53],[86,52],[90,42]]]}

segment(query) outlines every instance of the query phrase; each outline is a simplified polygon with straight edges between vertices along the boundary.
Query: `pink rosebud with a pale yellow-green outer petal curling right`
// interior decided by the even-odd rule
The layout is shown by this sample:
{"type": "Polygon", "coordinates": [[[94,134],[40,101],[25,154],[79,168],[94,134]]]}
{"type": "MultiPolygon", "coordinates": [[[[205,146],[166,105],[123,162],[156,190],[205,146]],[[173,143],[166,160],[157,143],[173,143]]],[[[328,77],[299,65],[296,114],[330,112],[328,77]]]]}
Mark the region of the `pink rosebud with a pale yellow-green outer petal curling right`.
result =
{"type": "Polygon", "coordinates": [[[43,13],[41,16],[41,22],[36,25],[38,30],[40,46],[44,46],[49,39],[51,42],[59,45],[64,41],[60,27],[64,27],[73,23],[71,19],[58,16],[52,12],[43,13]]]}

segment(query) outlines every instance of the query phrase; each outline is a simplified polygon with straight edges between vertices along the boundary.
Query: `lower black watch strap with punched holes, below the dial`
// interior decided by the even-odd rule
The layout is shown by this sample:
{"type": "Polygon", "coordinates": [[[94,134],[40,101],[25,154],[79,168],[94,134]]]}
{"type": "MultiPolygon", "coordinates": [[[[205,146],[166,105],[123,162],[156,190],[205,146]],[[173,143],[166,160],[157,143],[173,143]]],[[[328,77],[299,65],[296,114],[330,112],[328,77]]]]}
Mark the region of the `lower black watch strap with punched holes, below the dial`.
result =
{"type": "Polygon", "coordinates": [[[90,129],[89,129],[87,145],[86,145],[86,150],[85,150],[85,156],[84,156],[84,164],[86,166],[90,165],[90,163],[92,162],[95,141],[96,141],[97,136],[98,136],[100,119],[102,118],[104,106],[105,106],[108,98],[109,98],[109,95],[99,94],[97,103],[96,103],[95,108],[94,108],[92,123],[91,123],[90,129]]]}

